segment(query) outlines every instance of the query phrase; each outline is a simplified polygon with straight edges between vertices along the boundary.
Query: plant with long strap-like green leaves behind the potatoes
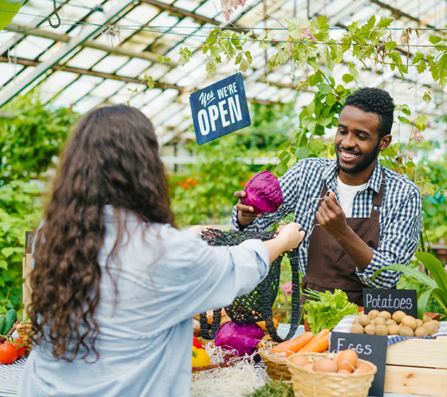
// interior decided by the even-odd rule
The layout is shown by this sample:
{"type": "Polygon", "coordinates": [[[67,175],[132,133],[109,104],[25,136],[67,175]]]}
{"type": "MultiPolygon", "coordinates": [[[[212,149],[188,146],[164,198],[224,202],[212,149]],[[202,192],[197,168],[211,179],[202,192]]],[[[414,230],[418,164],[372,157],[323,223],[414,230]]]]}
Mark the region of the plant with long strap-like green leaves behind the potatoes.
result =
{"type": "Polygon", "coordinates": [[[418,316],[420,318],[422,318],[422,315],[426,310],[430,296],[433,296],[444,312],[447,312],[447,273],[442,263],[438,261],[436,256],[433,256],[433,254],[430,254],[429,252],[418,252],[414,254],[414,256],[416,256],[427,271],[429,271],[431,277],[415,268],[397,263],[377,270],[374,273],[372,280],[384,270],[402,271],[403,273],[416,278],[417,281],[424,285],[424,288],[419,290],[418,293],[418,316]]]}

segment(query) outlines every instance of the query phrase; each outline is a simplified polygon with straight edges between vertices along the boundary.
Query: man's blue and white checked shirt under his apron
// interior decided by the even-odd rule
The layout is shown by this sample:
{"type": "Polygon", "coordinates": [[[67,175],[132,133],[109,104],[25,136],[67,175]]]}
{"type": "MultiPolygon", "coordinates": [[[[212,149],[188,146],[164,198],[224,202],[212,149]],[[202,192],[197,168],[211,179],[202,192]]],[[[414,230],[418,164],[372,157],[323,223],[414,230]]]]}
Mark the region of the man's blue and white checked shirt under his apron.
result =
{"type": "MultiPolygon", "coordinates": [[[[379,192],[382,179],[382,165],[377,165],[364,190],[357,192],[352,203],[351,217],[370,217],[373,193],[379,192]]],[[[279,184],[284,195],[284,204],[276,212],[264,214],[261,218],[254,218],[244,230],[262,232],[279,219],[294,213],[294,222],[301,224],[306,231],[306,237],[299,247],[299,267],[301,273],[306,274],[307,252],[313,219],[318,208],[318,198],[326,183],[328,191],[337,191],[337,161],[325,158],[307,158],[298,161],[279,178],[279,184]],[[317,200],[313,200],[317,199],[317,200]]],[[[362,283],[372,288],[391,288],[399,281],[401,272],[382,271],[375,281],[371,281],[375,271],[393,263],[408,265],[411,256],[419,244],[421,230],[421,192],[419,187],[408,178],[384,168],[386,185],[379,218],[379,246],[374,249],[370,264],[365,271],[356,269],[357,276],[362,283]]],[[[349,214],[346,215],[349,217],[349,214]]],[[[237,210],[233,208],[232,230],[239,230],[237,210]]],[[[322,247],[324,249],[324,247],[322,247]]]]}

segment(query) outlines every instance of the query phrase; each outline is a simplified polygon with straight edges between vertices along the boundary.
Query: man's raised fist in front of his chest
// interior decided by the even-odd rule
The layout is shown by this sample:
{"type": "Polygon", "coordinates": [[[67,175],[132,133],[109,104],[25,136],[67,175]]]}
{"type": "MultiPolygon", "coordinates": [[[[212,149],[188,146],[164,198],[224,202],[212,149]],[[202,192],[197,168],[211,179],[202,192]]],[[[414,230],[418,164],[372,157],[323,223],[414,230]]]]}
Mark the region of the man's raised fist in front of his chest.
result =
{"type": "Polygon", "coordinates": [[[316,218],[323,230],[334,237],[348,231],[345,212],[335,199],[334,192],[330,192],[329,196],[324,198],[316,212],[316,218]]]}

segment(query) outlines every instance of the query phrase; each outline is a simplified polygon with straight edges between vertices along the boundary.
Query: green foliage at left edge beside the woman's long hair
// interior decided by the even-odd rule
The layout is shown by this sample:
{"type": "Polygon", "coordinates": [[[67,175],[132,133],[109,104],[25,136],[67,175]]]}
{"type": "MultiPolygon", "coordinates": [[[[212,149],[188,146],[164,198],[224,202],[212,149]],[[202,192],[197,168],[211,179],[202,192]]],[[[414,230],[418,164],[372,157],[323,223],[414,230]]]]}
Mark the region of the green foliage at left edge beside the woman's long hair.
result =
{"type": "Polygon", "coordinates": [[[70,109],[43,106],[33,92],[1,110],[6,117],[0,118],[0,313],[21,307],[25,232],[42,217],[45,173],[78,117],[70,109]]]}

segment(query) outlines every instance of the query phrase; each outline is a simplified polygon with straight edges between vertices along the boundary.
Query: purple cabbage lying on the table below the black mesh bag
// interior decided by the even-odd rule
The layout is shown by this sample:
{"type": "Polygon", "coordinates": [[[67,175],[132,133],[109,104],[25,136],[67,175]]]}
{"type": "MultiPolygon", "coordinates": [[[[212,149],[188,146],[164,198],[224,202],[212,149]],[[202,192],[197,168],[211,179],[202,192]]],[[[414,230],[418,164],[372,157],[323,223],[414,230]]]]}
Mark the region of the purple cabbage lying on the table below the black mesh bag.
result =
{"type": "Polygon", "coordinates": [[[235,322],[225,322],[216,332],[214,343],[227,350],[235,349],[239,357],[251,355],[256,351],[256,345],[264,337],[264,331],[257,324],[237,325],[235,322]]]}

